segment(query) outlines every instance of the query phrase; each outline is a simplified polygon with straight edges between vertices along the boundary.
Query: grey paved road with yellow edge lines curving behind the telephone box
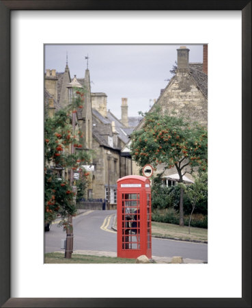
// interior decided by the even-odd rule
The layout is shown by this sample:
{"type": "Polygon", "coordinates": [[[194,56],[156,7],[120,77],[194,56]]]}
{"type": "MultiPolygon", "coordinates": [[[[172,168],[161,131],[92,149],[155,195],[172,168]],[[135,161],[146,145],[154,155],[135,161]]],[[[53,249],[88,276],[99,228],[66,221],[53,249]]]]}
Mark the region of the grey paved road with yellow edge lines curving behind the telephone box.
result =
{"type": "MultiPolygon", "coordinates": [[[[117,234],[110,229],[113,214],[115,211],[87,211],[74,217],[74,250],[116,252],[117,234]]],[[[53,224],[51,231],[45,232],[45,252],[60,251],[61,239],[66,239],[66,233],[53,224]]],[[[152,255],[208,261],[208,245],[152,238],[152,255]]]]}

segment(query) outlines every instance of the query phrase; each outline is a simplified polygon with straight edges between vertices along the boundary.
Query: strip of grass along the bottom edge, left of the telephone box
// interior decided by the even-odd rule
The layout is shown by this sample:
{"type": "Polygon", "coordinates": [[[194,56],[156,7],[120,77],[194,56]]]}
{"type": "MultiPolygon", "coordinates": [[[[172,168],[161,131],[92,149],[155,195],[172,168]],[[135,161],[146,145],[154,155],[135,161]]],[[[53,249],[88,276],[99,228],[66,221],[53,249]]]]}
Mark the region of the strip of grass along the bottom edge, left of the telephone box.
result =
{"type": "Polygon", "coordinates": [[[44,263],[67,263],[67,264],[85,264],[85,263],[135,263],[135,259],[124,259],[117,257],[98,257],[96,255],[79,255],[72,254],[71,259],[64,258],[64,253],[46,253],[44,258],[44,263]]]}

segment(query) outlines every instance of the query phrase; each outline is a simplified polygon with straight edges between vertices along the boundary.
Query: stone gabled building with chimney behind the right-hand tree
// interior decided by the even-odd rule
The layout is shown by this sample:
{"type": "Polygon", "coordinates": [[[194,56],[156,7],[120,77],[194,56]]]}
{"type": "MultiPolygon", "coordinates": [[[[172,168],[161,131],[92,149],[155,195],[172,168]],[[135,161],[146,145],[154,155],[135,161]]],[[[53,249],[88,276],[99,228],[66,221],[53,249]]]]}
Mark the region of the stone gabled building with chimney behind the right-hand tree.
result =
{"type": "MultiPolygon", "coordinates": [[[[152,112],[154,106],[161,107],[165,114],[173,115],[176,112],[178,116],[186,116],[186,119],[192,123],[197,121],[205,127],[208,126],[208,45],[203,47],[203,63],[189,62],[189,49],[180,47],[178,51],[178,67],[170,79],[167,87],[160,90],[160,96],[152,106],[149,112],[152,112]]],[[[144,119],[141,120],[135,130],[141,129],[144,119]]],[[[127,152],[127,144],[122,152],[127,152]]],[[[139,166],[132,163],[134,175],[139,175],[139,166]]],[[[157,172],[163,170],[163,166],[158,166],[157,172]]],[[[171,168],[165,172],[165,175],[176,173],[176,168],[171,168]]],[[[188,175],[188,177],[191,177],[188,175]]],[[[192,177],[191,177],[192,179],[192,177]]]]}

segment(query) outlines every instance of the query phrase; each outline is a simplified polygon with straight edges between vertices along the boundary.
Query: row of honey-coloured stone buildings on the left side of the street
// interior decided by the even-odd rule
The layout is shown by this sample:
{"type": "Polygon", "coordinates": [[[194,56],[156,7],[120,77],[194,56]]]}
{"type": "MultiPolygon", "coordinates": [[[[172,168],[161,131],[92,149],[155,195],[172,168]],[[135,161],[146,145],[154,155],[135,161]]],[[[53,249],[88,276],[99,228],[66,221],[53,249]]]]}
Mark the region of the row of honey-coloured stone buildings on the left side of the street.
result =
{"type": "MultiPolygon", "coordinates": [[[[44,84],[45,113],[48,115],[71,103],[74,87],[85,89],[85,103],[76,114],[76,129],[83,132],[83,140],[80,140],[83,148],[92,153],[94,170],[89,171],[87,198],[107,198],[113,208],[117,203],[117,179],[132,174],[131,157],[121,150],[141,117],[128,117],[125,98],[121,106],[122,120],[107,110],[107,95],[91,92],[88,69],[84,78],[74,75],[72,79],[68,64],[63,73],[46,69],[44,84]]],[[[69,171],[62,170],[61,177],[70,179],[69,171]]]]}

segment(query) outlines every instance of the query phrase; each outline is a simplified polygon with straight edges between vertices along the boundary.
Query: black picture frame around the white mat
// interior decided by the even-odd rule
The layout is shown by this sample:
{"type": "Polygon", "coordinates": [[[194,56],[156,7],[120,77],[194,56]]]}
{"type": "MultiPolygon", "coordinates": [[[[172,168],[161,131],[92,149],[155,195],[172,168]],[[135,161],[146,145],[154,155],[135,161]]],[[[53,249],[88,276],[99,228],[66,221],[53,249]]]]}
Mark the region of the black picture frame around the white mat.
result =
{"type": "Polygon", "coordinates": [[[1,307],[251,307],[251,1],[0,1],[0,68],[1,307]],[[240,10],[242,12],[242,298],[10,298],[11,10],[240,10]]]}

